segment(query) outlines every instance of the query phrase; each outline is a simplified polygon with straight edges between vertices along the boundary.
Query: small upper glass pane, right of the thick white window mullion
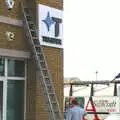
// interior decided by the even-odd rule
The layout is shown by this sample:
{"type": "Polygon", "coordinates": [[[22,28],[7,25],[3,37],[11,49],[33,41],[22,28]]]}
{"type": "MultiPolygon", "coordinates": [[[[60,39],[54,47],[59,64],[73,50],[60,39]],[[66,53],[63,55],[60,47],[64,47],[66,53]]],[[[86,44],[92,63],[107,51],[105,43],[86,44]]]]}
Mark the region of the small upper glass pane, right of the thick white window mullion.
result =
{"type": "Polygon", "coordinates": [[[8,76],[24,77],[25,63],[19,60],[8,60],[8,76]]]}

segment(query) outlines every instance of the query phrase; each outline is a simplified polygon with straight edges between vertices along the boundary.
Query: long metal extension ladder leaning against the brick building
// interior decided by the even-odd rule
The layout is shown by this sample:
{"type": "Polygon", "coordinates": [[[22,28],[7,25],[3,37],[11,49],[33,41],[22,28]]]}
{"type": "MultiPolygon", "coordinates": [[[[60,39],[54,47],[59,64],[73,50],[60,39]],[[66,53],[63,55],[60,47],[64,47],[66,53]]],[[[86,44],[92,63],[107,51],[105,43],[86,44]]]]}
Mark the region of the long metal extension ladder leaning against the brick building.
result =
{"type": "Polygon", "coordinates": [[[34,61],[37,65],[40,75],[40,85],[44,94],[44,101],[47,107],[49,120],[62,120],[60,107],[56,97],[55,90],[52,86],[52,80],[49,75],[45,56],[40,46],[38,31],[32,20],[31,11],[29,8],[25,8],[21,4],[23,14],[23,25],[25,29],[25,35],[28,43],[30,44],[31,51],[34,57],[34,61]]]}

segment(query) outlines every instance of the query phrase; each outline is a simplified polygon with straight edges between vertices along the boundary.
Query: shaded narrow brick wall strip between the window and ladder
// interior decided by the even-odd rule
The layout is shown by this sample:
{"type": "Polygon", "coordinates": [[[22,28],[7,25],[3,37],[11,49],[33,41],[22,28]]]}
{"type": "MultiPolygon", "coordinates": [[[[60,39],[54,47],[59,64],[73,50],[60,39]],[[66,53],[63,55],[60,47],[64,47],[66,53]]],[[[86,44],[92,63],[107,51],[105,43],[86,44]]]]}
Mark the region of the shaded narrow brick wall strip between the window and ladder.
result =
{"type": "MultiPolygon", "coordinates": [[[[36,91],[37,91],[36,67],[32,59],[27,61],[26,81],[26,114],[25,120],[36,119],[36,91]]],[[[39,87],[40,89],[40,87],[39,87]]],[[[39,104],[37,104],[39,106],[39,104]]],[[[40,118],[39,118],[40,119],[40,118]]]]}

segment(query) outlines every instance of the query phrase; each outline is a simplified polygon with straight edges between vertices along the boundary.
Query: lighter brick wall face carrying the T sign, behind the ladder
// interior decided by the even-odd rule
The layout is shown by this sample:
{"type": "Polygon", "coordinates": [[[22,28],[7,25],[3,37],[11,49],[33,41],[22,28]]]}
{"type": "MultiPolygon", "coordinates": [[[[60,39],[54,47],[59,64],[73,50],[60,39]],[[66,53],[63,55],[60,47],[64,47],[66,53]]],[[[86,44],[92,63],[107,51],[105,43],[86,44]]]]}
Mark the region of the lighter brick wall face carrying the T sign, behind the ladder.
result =
{"type": "MultiPolygon", "coordinates": [[[[37,4],[44,4],[50,7],[54,7],[57,9],[62,8],[62,0],[37,0],[36,3],[34,1],[29,2],[29,7],[32,8],[33,14],[36,13],[36,7],[32,6],[37,4]]],[[[34,14],[34,17],[36,14],[34,14]]],[[[34,19],[36,21],[36,19],[34,19]]],[[[45,57],[48,63],[48,68],[52,76],[53,86],[57,93],[58,101],[60,104],[61,111],[63,112],[63,49],[57,49],[52,47],[43,47],[43,51],[45,53],[45,57]]],[[[48,120],[48,114],[45,110],[44,98],[42,94],[42,90],[40,89],[39,80],[36,80],[36,116],[35,119],[39,120],[48,120]]],[[[33,93],[34,94],[34,93],[33,93]]]]}

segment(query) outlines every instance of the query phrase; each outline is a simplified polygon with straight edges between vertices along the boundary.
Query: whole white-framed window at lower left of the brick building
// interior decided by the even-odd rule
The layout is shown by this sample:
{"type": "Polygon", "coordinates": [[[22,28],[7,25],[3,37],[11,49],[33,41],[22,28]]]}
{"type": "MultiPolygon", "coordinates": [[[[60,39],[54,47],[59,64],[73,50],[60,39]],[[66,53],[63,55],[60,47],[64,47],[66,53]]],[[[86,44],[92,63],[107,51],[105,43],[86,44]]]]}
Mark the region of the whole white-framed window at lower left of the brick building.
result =
{"type": "Polygon", "coordinates": [[[25,77],[25,61],[0,58],[0,120],[24,120],[25,77]]]}

